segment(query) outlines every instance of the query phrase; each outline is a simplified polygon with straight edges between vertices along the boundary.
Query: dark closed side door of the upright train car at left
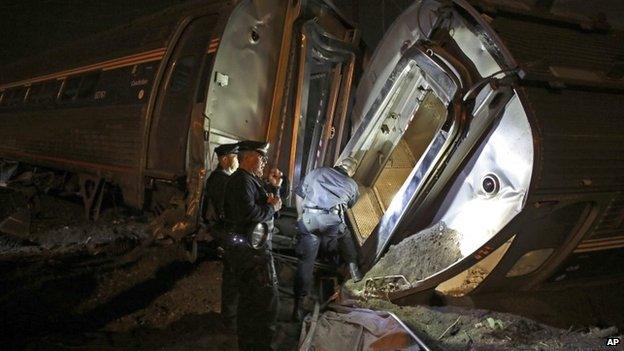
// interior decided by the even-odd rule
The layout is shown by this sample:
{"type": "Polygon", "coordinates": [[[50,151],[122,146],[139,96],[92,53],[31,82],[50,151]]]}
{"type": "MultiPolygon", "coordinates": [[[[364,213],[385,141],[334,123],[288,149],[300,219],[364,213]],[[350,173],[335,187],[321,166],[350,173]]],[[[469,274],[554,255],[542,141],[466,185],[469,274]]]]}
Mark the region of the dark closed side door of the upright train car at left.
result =
{"type": "Polygon", "coordinates": [[[216,22],[216,16],[191,21],[168,59],[149,130],[147,174],[176,179],[186,172],[188,130],[199,70],[216,22]]]}

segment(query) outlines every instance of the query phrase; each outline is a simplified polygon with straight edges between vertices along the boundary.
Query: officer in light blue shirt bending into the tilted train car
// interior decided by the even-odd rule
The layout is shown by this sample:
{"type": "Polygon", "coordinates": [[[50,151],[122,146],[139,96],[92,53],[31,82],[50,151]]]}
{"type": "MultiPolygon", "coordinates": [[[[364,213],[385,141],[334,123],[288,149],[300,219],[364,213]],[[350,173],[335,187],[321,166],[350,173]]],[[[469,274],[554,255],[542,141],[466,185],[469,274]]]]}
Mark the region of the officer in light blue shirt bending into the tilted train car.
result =
{"type": "Polygon", "coordinates": [[[336,167],[313,170],[297,187],[299,237],[296,252],[299,264],[295,273],[295,305],[293,319],[301,319],[301,305],[310,294],[314,261],[323,246],[326,251],[340,252],[354,281],[362,279],[357,266],[357,252],[347,230],[345,210],[351,208],[359,196],[358,186],[351,178],[357,168],[355,159],[348,157],[336,167]]]}

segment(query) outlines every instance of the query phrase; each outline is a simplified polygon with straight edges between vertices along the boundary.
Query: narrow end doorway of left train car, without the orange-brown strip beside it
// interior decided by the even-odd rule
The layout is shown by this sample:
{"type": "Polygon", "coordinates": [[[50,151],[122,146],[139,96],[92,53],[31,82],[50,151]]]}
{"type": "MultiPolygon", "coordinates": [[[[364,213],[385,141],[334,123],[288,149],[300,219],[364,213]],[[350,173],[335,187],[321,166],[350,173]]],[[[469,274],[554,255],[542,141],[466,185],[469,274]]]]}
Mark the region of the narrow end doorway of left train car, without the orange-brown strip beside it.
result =
{"type": "Polygon", "coordinates": [[[349,136],[346,116],[359,34],[327,6],[310,2],[293,28],[293,123],[281,144],[290,148],[283,150],[290,155],[284,168],[295,186],[312,169],[333,165],[349,136]]]}

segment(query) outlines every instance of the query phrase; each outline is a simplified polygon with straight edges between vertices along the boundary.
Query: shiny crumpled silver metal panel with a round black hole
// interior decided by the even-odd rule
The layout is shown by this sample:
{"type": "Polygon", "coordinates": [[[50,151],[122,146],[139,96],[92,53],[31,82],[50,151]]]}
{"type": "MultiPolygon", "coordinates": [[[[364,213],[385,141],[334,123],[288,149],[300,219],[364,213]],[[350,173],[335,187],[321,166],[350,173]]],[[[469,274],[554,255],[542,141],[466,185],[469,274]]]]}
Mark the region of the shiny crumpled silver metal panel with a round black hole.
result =
{"type": "Polygon", "coordinates": [[[533,138],[520,100],[515,97],[492,134],[455,180],[434,222],[461,235],[469,255],[496,235],[524,207],[533,170],[533,138]],[[486,177],[498,179],[487,192],[486,177]]]}

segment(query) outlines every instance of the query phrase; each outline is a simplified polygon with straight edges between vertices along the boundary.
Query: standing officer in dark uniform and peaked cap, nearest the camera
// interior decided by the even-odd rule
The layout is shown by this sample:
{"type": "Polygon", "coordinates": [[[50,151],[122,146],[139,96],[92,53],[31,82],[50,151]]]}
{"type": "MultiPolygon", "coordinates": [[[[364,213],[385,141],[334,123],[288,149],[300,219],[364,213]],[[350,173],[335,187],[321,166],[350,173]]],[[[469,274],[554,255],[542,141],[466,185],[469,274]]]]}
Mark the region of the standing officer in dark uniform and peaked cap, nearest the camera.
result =
{"type": "Polygon", "coordinates": [[[229,235],[223,284],[232,291],[223,293],[239,295],[236,320],[241,350],[269,350],[277,319],[277,276],[270,234],[273,218],[282,207],[282,200],[275,195],[282,174],[271,170],[271,189],[267,191],[260,177],[268,148],[264,142],[240,142],[240,166],[226,186],[224,213],[229,235]]]}

